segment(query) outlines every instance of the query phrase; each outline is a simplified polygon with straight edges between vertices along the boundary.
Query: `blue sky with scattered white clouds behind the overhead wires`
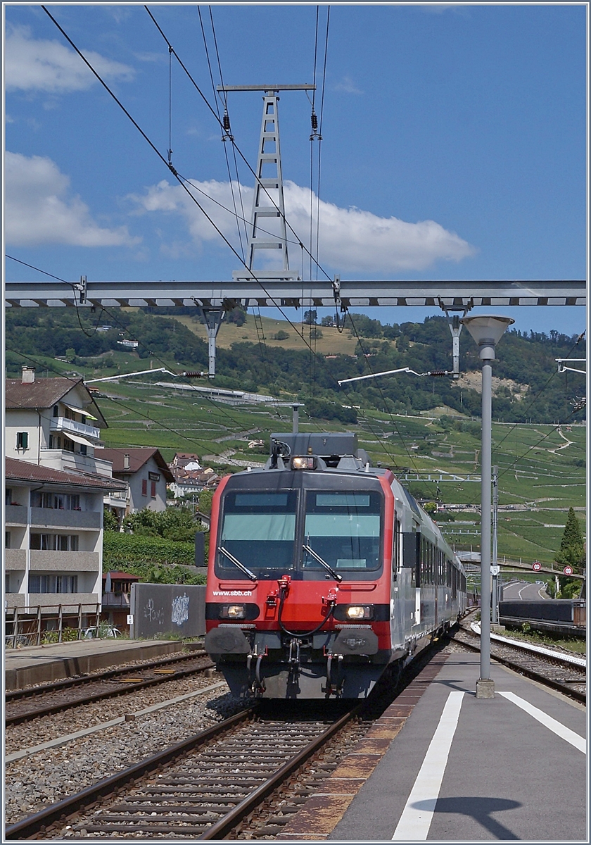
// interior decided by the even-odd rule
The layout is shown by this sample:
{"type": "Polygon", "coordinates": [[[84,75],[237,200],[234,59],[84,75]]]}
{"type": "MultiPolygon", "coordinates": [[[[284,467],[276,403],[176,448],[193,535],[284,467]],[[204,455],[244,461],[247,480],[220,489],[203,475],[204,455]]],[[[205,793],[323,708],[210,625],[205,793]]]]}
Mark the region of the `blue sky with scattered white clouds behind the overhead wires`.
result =
{"type": "MultiPolygon", "coordinates": [[[[48,8],[166,157],[169,54],[144,7],[48,8]]],[[[150,8],[213,103],[198,7],[150,8]]],[[[200,8],[217,84],[209,8],[200,8]]],[[[316,6],[211,8],[226,85],[312,82],[316,6]]],[[[68,280],[225,279],[241,269],[41,7],[4,10],[8,254],[68,280]]],[[[328,275],[584,278],[586,4],[334,5],[323,79],[327,11],[316,111],[323,86],[319,260],[328,275]]],[[[229,95],[232,133],[252,166],[261,106],[258,93],[229,95]]],[[[281,95],[286,210],[306,245],[310,111],[304,92],[281,95]]],[[[176,170],[231,204],[230,144],[174,60],[171,113],[176,170]]],[[[253,178],[240,160],[237,177],[248,216],[253,178]]],[[[240,251],[236,221],[207,207],[240,251]]],[[[290,261],[301,269],[299,248],[290,261]]],[[[42,278],[10,260],[6,272],[42,278]]],[[[368,313],[404,322],[429,312],[368,313]]],[[[522,330],[570,335],[585,325],[583,308],[506,313],[522,330]]]]}

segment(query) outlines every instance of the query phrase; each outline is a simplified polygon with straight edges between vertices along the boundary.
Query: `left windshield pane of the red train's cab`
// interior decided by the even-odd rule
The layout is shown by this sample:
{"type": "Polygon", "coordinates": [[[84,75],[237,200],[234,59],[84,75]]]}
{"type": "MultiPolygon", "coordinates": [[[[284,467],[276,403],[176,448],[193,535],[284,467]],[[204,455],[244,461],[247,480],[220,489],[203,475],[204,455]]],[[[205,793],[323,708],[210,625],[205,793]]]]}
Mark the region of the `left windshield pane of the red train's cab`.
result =
{"type": "MultiPolygon", "coordinates": [[[[294,567],[296,490],[225,493],[220,548],[242,566],[288,571],[294,567]]],[[[244,578],[236,564],[218,551],[215,570],[225,578],[244,578]]]]}

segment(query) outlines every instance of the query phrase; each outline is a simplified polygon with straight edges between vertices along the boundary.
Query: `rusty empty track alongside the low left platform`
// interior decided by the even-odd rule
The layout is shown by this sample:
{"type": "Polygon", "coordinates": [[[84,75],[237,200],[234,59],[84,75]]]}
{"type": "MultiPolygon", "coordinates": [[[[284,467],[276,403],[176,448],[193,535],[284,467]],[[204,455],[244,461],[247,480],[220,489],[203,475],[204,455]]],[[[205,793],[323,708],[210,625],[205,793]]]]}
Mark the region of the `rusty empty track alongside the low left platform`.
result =
{"type": "Polygon", "coordinates": [[[162,658],[135,667],[109,669],[92,675],[80,675],[24,690],[6,693],[5,723],[17,725],[49,716],[93,701],[143,690],[168,680],[186,678],[214,668],[207,653],[193,651],[181,657],[162,658]]]}

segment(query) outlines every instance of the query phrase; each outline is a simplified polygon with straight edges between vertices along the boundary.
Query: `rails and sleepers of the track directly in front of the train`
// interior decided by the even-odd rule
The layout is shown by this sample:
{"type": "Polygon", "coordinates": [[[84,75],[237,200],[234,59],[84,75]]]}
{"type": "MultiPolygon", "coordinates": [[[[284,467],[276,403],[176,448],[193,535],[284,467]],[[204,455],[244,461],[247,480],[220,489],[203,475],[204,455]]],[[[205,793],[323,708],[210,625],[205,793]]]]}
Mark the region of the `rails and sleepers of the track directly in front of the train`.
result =
{"type": "Polygon", "coordinates": [[[286,723],[259,707],[242,711],[8,827],[6,837],[223,838],[355,715],[286,723]]]}

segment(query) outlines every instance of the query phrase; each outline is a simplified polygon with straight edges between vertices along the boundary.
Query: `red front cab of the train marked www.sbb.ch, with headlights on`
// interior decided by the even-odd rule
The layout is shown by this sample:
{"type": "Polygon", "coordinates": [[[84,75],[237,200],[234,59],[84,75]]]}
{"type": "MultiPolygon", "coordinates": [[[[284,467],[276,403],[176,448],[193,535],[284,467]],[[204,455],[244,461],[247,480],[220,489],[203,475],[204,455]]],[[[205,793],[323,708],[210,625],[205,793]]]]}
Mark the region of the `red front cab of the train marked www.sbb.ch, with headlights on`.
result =
{"type": "Polygon", "coordinates": [[[220,484],[205,646],[235,695],[369,694],[393,657],[392,478],[283,470],[220,484]]]}

